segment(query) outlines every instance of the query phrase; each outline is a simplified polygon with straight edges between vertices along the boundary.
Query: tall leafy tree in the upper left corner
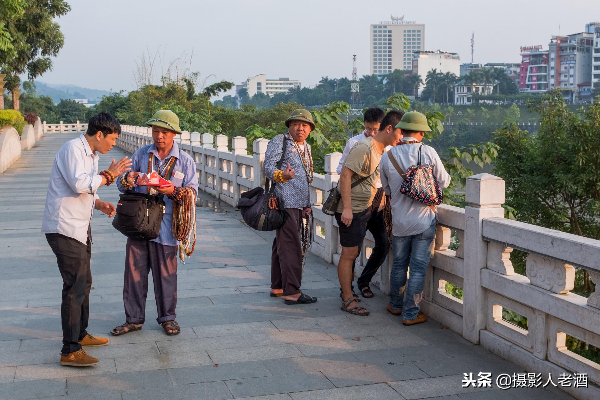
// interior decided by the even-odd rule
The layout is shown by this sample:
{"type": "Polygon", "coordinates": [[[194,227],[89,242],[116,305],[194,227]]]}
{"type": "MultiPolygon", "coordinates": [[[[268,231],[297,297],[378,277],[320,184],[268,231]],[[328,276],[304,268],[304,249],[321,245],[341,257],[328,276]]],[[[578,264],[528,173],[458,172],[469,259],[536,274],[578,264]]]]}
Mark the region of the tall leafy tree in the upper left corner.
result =
{"type": "Polygon", "coordinates": [[[4,22],[13,49],[0,49],[0,65],[2,73],[7,74],[6,88],[13,94],[13,109],[19,109],[19,76],[27,73],[28,79],[34,80],[52,70],[52,57],[58,55],[64,44],[60,26],[53,19],[70,10],[63,0],[27,0],[22,14],[16,13],[13,19],[4,22]]]}

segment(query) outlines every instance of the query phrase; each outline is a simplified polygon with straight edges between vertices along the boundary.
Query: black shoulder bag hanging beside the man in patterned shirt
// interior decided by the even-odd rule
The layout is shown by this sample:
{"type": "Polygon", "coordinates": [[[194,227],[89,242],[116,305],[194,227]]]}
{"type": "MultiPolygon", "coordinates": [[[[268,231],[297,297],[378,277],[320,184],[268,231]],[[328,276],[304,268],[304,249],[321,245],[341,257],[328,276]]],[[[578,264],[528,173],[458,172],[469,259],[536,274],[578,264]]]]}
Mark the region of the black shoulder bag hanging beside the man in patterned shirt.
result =
{"type": "MultiPolygon", "coordinates": [[[[281,159],[277,163],[277,169],[281,169],[283,164],[283,157],[286,155],[287,138],[283,136],[283,151],[281,152],[281,159]]],[[[256,174],[256,171],[254,172],[256,174]]],[[[256,175],[255,175],[256,176],[256,175]]],[[[286,222],[287,213],[283,210],[283,205],[275,197],[275,182],[271,184],[269,188],[269,178],[265,179],[265,189],[262,187],[255,187],[248,192],[244,192],[240,195],[238,205],[239,212],[244,218],[244,222],[252,229],[257,231],[274,231],[275,229],[281,228],[286,222]],[[269,207],[273,202],[271,199],[277,199],[279,207],[269,207]]]]}

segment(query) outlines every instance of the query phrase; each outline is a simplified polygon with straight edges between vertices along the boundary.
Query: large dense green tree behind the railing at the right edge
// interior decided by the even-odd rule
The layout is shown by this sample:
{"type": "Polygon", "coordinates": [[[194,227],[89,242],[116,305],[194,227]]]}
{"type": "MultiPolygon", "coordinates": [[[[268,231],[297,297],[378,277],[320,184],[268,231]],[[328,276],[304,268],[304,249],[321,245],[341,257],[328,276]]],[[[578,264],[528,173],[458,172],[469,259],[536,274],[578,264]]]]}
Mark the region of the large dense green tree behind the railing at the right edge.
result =
{"type": "MultiPolygon", "coordinates": [[[[541,118],[535,135],[512,121],[494,132],[506,204],[520,221],[600,240],[600,104],[572,112],[555,90],[529,107],[541,118]]],[[[586,271],[575,291],[593,291],[586,271]]]]}

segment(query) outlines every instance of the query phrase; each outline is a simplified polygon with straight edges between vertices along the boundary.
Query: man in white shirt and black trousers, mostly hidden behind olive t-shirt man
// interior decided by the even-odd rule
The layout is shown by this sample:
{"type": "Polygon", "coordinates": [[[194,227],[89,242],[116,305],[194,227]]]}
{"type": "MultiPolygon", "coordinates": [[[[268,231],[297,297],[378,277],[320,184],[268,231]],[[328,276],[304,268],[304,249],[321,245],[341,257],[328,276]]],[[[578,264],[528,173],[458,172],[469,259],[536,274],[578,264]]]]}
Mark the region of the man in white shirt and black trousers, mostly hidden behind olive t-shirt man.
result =
{"type": "MultiPolygon", "coordinates": [[[[344,163],[346,162],[348,154],[350,153],[350,149],[362,139],[375,136],[377,132],[379,132],[379,127],[383,121],[383,117],[385,117],[385,114],[381,109],[377,107],[371,107],[367,109],[367,111],[365,111],[363,117],[365,123],[365,130],[362,133],[359,133],[359,135],[353,136],[352,138],[348,139],[348,141],[346,142],[346,147],[344,147],[344,153],[342,153],[340,164],[337,167],[338,175],[341,174],[341,169],[343,168],[344,163]]],[[[400,118],[401,117],[402,116],[400,115],[400,118]]],[[[388,151],[389,148],[386,148],[385,151],[388,151]]],[[[383,190],[381,189],[382,186],[379,178],[377,179],[376,186],[378,190],[383,190]]],[[[373,248],[373,252],[371,253],[371,256],[367,261],[367,265],[365,265],[364,269],[362,270],[361,276],[358,278],[358,289],[361,291],[362,297],[368,298],[373,297],[373,292],[369,287],[371,279],[373,279],[373,276],[377,273],[377,270],[379,270],[379,267],[383,264],[383,261],[385,261],[385,258],[389,252],[389,237],[385,229],[385,222],[383,221],[383,211],[373,213],[373,216],[367,224],[367,229],[373,235],[373,238],[375,240],[375,247],[373,248]]],[[[358,247],[359,254],[361,247],[362,246],[358,247]]],[[[354,276],[355,264],[356,261],[352,263],[352,276],[354,276]]],[[[352,292],[354,293],[354,286],[352,286],[352,292]]]]}

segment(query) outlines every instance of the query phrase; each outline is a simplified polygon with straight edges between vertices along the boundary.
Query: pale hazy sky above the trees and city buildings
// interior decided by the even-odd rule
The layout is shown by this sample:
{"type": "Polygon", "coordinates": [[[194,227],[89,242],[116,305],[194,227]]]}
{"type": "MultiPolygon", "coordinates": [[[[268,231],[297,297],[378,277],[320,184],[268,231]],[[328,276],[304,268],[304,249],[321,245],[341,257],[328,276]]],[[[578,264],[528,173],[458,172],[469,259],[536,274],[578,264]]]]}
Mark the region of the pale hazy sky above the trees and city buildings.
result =
{"type": "MultiPolygon", "coordinates": [[[[136,59],[160,48],[170,59],[193,50],[191,70],[209,80],[241,83],[248,76],[302,80],[370,73],[371,23],[390,14],[425,23],[427,50],[460,53],[475,62],[519,62],[519,47],[550,35],[581,32],[600,21],[598,0],[68,0],[58,20],[65,45],[53,71],[40,78],[94,89],[134,88],[136,59]]],[[[156,65],[160,64],[157,61],[156,65]]],[[[160,70],[160,67],[158,67],[160,70]]]]}

